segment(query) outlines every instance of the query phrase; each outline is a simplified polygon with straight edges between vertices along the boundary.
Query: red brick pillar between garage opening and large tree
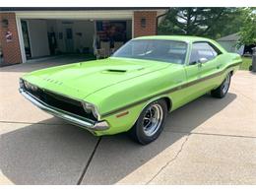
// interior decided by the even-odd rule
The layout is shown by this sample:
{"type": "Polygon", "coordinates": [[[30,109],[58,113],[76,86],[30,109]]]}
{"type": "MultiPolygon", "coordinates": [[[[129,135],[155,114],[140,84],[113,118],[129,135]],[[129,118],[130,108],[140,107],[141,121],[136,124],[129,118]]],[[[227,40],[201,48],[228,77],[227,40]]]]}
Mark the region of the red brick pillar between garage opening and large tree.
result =
{"type": "Polygon", "coordinates": [[[135,11],[134,12],[134,37],[157,34],[157,12],[135,11]],[[146,19],[146,26],[141,26],[141,20],[146,19]]]}

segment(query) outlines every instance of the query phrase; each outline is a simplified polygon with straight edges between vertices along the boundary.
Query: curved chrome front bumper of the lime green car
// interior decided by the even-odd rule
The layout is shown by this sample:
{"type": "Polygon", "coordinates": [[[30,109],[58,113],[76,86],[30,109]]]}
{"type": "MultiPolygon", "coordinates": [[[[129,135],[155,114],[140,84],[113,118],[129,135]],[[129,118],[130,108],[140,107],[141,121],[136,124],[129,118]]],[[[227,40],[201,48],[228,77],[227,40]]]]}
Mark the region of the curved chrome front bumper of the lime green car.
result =
{"type": "Polygon", "coordinates": [[[70,112],[48,105],[47,103],[37,99],[35,96],[32,96],[30,93],[28,93],[24,89],[20,88],[19,91],[23,96],[29,99],[35,106],[39,107],[40,109],[54,116],[65,119],[72,124],[86,128],[90,131],[102,131],[109,128],[109,125],[107,124],[106,121],[93,121],[91,119],[84,118],[76,114],[72,114],[70,112]]]}

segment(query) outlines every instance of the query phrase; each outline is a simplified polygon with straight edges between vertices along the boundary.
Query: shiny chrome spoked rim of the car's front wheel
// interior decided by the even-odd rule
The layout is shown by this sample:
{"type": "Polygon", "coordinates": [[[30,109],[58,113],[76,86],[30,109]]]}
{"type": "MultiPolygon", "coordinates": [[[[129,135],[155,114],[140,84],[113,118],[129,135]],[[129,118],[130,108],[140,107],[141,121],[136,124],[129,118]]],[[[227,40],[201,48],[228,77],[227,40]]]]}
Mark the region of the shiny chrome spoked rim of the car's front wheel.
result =
{"type": "Polygon", "coordinates": [[[153,136],[160,128],[163,111],[160,104],[151,105],[143,117],[143,131],[148,137],[153,136]]]}

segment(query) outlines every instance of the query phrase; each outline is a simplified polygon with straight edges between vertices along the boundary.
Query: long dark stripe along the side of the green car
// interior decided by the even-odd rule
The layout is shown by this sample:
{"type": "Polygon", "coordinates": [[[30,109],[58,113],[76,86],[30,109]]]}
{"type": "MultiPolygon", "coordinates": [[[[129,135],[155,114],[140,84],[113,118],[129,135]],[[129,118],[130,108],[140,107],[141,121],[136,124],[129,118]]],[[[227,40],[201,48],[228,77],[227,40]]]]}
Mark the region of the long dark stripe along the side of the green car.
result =
{"type": "Polygon", "coordinates": [[[181,85],[181,86],[177,86],[177,87],[175,87],[175,88],[171,88],[171,89],[169,89],[169,90],[166,90],[166,91],[164,91],[164,92],[161,92],[161,93],[158,94],[158,95],[148,96],[148,97],[143,98],[143,99],[141,99],[141,100],[132,102],[132,103],[127,104],[127,105],[125,105],[125,106],[122,106],[122,107],[119,107],[119,108],[117,108],[117,109],[111,110],[111,111],[109,111],[109,112],[103,113],[102,115],[100,115],[100,117],[101,117],[101,118],[104,118],[104,117],[106,117],[106,116],[109,116],[109,115],[112,115],[112,114],[121,112],[121,111],[123,111],[123,110],[125,110],[125,109],[127,109],[127,108],[133,107],[133,106],[138,105],[138,104],[140,104],[140,103],[142,103],[142,102],[145,102],[145,101],[147,101],[147,100],[150,100],[151,98],[154,98],[154,97],[156,97],[156,96],[171,94],[171,93],[173,93],[173,92],[180,91],[180,90],[185,89],[185,88],[188,88],[188,87],[190,87],[190,86],[194,86],[194,85],[196,85],[196,84],[198,84],[198,83],[201,83],[201,82],[203,82],[203,81],[206,81],[206,80],[209,80],[209,79],[212,79],[212,78],[221,76],[221,75],[224,74],[224,72],[225,72],[228,68],[235,67],[235,66],[238,66],[238,65],[240,65],[240,64],[241,64],[240,62],[239,62],[239,63],[231,64],[231,65],[227,66],[226,68],[224,68],[223,71],[220,71],[220,72],[215,73],[215,74],[213,74],[213,75],[210,75],[210,76],[207,76],[207,77],[204,77],[204,78],[195,80],[195,81],[193,81],[193,82],[189,82],[189,83],[187,83],[187,84],[183,84],[183,85],[181,85]]]}

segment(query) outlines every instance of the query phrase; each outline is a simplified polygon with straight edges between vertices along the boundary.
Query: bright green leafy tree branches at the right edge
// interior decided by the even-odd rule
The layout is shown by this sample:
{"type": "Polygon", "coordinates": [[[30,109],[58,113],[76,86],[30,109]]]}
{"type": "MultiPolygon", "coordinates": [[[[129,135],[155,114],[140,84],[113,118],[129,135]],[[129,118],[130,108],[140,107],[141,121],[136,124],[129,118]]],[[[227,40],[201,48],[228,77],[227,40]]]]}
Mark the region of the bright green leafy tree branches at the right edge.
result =
{"type": "Polygon", "coordinates": [[[256,44],[256,8],[244,9],[244,22],[239,32],[238,46],[256,44]]]}

